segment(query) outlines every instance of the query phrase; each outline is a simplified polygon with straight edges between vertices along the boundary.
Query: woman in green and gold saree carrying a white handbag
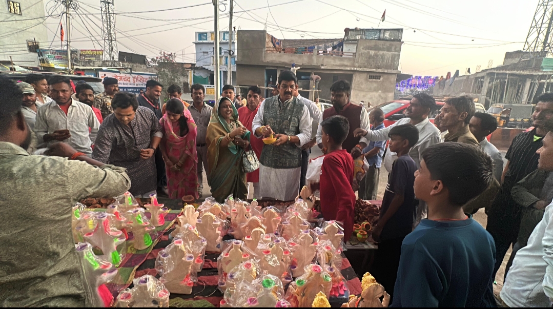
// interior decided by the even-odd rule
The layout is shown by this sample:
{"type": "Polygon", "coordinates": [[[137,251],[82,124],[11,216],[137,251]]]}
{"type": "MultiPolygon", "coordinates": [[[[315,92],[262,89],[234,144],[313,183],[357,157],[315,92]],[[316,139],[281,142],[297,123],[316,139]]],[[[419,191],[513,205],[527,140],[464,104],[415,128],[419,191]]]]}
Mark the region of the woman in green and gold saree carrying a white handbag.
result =
{"type": "Polygon", "coordinates": [[[248,187],[242,171],[242,149],[249,147],[250,132],[238,121],[238,111],[225,97],[219,99],[207,125],[207,182],[211,195],[224,202],[229,195],[246,200],[248,187]]]}

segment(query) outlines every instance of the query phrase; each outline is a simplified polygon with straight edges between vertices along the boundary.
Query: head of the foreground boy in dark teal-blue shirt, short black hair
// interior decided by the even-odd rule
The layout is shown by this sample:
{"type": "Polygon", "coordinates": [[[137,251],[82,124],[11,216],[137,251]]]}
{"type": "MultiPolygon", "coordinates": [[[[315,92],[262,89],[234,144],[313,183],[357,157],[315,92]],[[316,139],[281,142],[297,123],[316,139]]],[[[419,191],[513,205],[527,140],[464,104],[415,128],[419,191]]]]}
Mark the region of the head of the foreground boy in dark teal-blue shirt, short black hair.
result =
{"type": "Polygon", "coordinates": [[[482,150],[461,143],[436,144],[422,153],[415,196],[462,207],[486,190],[492,179],[492,159],[482,150]]]}

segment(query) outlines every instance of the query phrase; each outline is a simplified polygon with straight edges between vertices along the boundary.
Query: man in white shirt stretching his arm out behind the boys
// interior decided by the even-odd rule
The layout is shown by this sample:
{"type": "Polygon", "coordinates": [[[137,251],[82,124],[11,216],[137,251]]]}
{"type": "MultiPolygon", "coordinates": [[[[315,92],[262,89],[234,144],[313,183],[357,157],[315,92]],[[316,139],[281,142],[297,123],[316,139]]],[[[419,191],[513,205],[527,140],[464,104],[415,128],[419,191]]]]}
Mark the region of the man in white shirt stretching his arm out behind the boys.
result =
{"type": "MultiPolygon", "coordinates": [[[[436,108],[436,100],[426,93],[417,93],[409,102],[409,107],[406,109],[405,117],[387,128],[380,130],[366,130],[359,128],[354,132],[356,136],[364,136],[367,140],[378,142],[380,140],[388,140],[388,133],[396,125],[410,123],[419,130],[419,141],[409,150],[409,156],[415,161],[418,169],[420,169],[420,161],[422,160],[422,152],[431,145],[442,142],[440,130],[436,128],[428,120],[428,114],[436,108]]],[[[384,167],[388,172],[392,171],[392,164],[397,159],[397,154],[388,149],[384,156],[384,167]]],[[[426,218],[427,208],[424,202],[420,202],[417,207],[415,226],[419,224],[421,219],[426,218]]]]}

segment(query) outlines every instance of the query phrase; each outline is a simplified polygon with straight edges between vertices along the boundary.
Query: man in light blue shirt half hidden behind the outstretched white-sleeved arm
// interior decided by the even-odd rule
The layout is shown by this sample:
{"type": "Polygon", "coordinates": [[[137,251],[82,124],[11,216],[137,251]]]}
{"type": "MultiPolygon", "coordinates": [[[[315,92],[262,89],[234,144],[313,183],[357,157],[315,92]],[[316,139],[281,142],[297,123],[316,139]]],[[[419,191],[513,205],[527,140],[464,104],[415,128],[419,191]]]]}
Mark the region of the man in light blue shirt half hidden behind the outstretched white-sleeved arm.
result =
{"type": "MultiPolygon", "coordinates": [[[[371,130],[384,129],[384,112],[380,108],[375,108],[369,114],[369,122],[372,125],[371,130]]],[[[361,200],[376,200],[378,193],[378,180],[380,177],[380,166],[382,165],[382,155],[386,141],[370,142],[363,149],[363,155],[369,164],[369,170],[365,177],[359,182],[359,198],[361,200]]]]}

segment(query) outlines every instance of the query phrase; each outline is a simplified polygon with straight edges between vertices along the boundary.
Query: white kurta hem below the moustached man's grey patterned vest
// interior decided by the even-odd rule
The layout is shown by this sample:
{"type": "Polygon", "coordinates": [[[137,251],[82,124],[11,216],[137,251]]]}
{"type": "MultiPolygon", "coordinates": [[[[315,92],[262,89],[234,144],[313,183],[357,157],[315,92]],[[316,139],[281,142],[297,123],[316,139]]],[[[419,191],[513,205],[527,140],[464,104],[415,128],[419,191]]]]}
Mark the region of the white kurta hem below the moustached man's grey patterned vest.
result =
{"type": "Polygon", "coordinates": [[[298,197],[301,166],[295,169],[273,169],[259,166],[259,182],[254,184],[255,198],[291,201],[298,197]]]}

